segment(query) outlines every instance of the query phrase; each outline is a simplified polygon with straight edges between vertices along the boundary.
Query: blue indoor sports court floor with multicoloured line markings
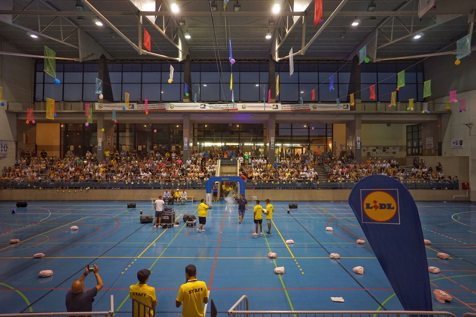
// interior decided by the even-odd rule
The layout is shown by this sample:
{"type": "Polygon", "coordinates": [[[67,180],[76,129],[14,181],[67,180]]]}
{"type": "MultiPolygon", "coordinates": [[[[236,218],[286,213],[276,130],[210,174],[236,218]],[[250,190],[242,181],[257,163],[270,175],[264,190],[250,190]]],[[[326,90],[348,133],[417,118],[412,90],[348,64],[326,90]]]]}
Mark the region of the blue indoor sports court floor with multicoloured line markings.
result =
{"type": "MultiPolygon", "coordinates": [[[[355,243],[365,237],[347,202],[299,202],[291,214],[288,202],[273,205],[272,234],[253,236],[254,202],[243,224],[236,205],[214,206],[205,232],[183,222],[165,230],[141,224],[139,210],[153,213],[150,202],[138,202],[135,209],[126,202],[29,202],[27,208],[0,202],[0,313],[64,311],[66,292],[89,263],[99,266],[104,281],[93,309],[108,310],[112,294],[118,316],[130,315],[129,285],[137,282],[139,269],[152,271],[148,284],[156,288],[158,316],[180,316],[175,298],[191,263],[222,316],[243,294],[253,310],[402,309],[370,246],[355,243]],[[72,225],[79,230],[70,231],[72,225]],[[287,245],[288,239],[296,243],[287,245]],[[269,251],[278,258],[268,259],[269,251]],[[45,257],[33,259],[39,252],[45,257]],[[332,252],[341,259],[329,259],[332,252]],[[274,274],[277,266],[286,273],[274,274]],[[364,267],[363,275],[353,273],[356,266],[364,267]],[[52,269],[53,276],[39,278],[43,269],[52,269]]],[[[426,246],[428,265],[441,269],[428,273],[431,288],[453,297],[445,304],[433,299],[433,308],[456,316],[476,312],[476,204],[417,206],[425,239],[432,241],[426,246]],[[438,259],[439,251],[451,258],[438,259]]],[[[178,215],[197,214],[197,203],[174,207],[178,215]]],[[[405,257],[405,245],[395,257],[405,257]]],[[[90,276],[85,287],[95,282],[90,276]]]]}

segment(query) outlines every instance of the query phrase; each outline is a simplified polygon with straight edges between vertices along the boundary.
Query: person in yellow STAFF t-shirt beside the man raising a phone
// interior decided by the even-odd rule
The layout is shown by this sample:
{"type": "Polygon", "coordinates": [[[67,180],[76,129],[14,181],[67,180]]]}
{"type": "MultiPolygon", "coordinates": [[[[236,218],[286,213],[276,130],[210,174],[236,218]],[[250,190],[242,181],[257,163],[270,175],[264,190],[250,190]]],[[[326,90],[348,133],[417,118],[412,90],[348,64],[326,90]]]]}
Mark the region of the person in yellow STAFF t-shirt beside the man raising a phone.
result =
{"type": "Polygon", "coordinates": [[[150,271],[148,269],[141,269],[137,272],[139,283],[129,287],[130,298],[152,308],[143,307],[136,302],[132,302],[132,316],[134,317],[153,317],[155,315],[154,312],[157,305],[157,298],[155,296],[155,288],[146,284],[149,280],[149,275],[150,271]]]}

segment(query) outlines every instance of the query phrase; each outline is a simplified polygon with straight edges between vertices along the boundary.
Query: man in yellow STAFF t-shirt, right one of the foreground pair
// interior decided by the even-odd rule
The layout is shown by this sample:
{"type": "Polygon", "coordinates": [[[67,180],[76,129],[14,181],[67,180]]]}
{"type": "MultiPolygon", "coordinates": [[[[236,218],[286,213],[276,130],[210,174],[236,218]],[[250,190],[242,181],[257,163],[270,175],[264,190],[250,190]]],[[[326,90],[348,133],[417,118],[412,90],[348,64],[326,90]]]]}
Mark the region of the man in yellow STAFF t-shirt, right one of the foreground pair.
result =
{"type": "Polygon", "coordinates": [[[180,285],[175,306],[178,308],[183,302],[182,317],[205,317],[203,304],[208,303],[207,284],[196,278],[197,268],[193,264],[185,268],[185,277],[187,282],[180,285]]]}

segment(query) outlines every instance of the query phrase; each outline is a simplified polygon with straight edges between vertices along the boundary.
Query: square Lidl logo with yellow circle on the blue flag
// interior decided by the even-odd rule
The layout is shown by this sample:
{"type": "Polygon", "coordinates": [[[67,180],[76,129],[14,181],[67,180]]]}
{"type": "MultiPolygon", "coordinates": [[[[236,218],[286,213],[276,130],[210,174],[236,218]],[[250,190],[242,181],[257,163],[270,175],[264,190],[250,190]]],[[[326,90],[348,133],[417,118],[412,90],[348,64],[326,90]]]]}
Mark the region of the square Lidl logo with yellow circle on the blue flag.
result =
{"type": "Polygon", "coordinates": [[[398,190],[361,190],[362,222],[400,223],[398,190]]]}

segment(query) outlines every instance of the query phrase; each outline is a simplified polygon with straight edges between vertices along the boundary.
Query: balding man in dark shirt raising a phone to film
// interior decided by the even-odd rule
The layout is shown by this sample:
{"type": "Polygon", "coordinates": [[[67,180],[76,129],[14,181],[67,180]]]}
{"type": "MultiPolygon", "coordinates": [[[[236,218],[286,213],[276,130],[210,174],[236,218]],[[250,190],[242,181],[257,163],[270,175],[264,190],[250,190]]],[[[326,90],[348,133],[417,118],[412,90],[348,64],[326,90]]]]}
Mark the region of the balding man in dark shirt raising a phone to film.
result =
{"type": "Polygon", "coordinates": [[[71,285],[71,289],[66,294],[66,310],[68,312],[92,311],[92,302],[104,286],[99,276],[99,268],[97,265],[88,265],[86,270],[79,279],[75,279],[71,285]],[[96,277],[97,286],[84,291],[84,280],[89,273],[93,272],[96,277]]]}

